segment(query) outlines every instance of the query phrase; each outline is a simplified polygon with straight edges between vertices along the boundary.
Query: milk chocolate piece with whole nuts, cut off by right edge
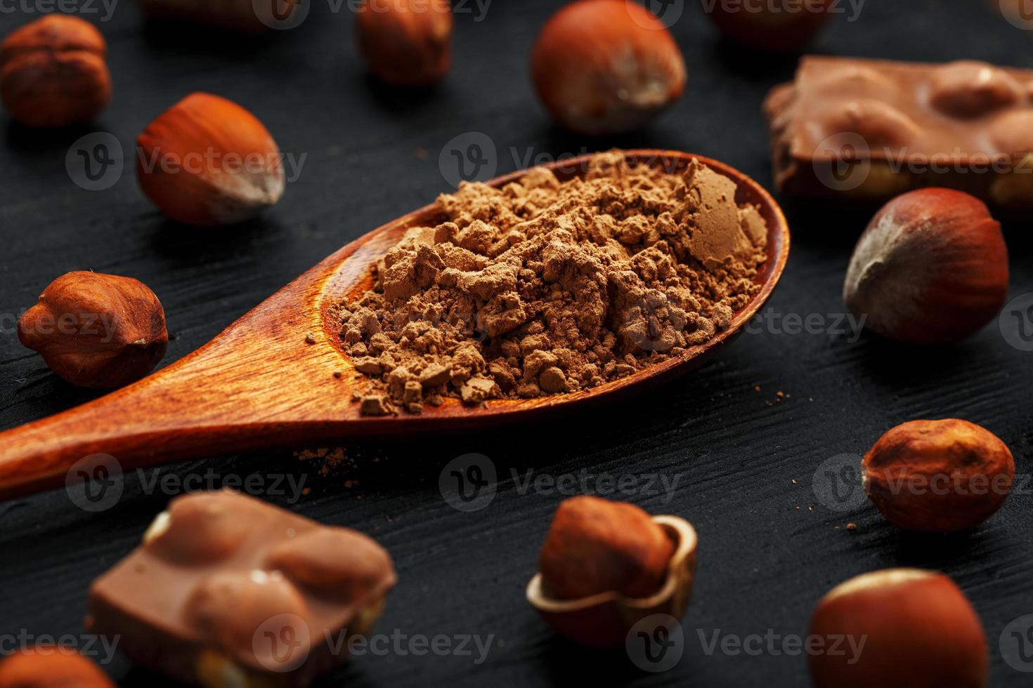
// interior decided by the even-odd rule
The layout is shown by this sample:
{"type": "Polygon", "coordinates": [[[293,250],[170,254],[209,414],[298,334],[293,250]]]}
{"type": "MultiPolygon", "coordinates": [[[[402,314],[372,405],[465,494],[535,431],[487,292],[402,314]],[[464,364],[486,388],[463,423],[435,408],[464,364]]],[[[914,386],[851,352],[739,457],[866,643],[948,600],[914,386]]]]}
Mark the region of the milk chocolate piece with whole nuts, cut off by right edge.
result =
{"type": "Polygon", "coordinates": [[[948,187],[1028,211],[1031,96],[1031,70],[805,57],[764,103],[776,185],[869,200],[948,187]]]}

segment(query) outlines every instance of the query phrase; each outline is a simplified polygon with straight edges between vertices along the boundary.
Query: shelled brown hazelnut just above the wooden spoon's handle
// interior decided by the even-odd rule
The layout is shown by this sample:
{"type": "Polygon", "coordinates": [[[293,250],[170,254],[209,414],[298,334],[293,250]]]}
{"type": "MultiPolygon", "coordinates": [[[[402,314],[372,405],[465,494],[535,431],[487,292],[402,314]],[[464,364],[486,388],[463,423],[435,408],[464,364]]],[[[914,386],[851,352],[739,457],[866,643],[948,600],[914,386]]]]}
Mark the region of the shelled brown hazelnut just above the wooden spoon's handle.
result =
{"type": "Polygon", "coordinates": [[[154,292],[131,277],[98,272],[52,282],[19,320],[18,337],[62,379],[95,388],[139,380],[168,346],[154,292]]]}

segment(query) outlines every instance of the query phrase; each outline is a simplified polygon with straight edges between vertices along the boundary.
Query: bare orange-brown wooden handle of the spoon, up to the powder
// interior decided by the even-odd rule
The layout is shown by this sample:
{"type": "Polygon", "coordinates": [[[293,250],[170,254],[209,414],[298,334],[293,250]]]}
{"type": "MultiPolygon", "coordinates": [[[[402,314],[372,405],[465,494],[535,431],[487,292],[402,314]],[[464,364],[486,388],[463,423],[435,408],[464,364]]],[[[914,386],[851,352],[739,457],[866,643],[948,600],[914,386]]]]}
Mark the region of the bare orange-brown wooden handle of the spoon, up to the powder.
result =
{"type": "Polygon", "coordinates": [[[245,317],[129,387],[0,433],[0,500],[81,482],[98,461],[127,471],[351,434],[362,423],[334,378],[340,356],[260,323],[245,317]]]}

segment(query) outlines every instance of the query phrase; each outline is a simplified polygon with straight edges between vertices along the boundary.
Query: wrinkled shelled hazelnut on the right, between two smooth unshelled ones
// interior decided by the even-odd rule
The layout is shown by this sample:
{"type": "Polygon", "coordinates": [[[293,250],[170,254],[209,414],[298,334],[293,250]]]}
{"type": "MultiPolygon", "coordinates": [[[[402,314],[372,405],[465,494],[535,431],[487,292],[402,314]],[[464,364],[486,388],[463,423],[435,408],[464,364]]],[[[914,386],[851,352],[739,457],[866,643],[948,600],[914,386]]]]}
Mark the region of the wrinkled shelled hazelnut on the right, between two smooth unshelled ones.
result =
{"type": "Polygon", "coordinates": [[[906,530],[976,527],[1001,507],[1015,462],[997,435],[968,421],[911,421],[879,438],[863,462],[865,492],[906,530]]]}

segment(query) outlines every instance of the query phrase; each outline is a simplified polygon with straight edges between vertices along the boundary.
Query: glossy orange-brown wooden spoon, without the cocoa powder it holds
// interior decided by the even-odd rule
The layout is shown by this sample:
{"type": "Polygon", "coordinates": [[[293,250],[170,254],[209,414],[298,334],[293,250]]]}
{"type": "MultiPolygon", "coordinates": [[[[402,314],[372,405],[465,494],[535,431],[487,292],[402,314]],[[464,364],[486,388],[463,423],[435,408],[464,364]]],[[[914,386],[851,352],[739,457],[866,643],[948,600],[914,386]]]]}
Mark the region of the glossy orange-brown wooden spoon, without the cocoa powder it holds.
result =
{"type": "MultiPolygon", "coordinates": [[[[414,226],[444,221],[427,205],[359,237],[278,291],[212,341],[137,383],[75,408],[0,433],[0,498],[81,480],[69,469],[94,454],[122,470],[258,448],[313,446],[358,435],[458,430],[515,423],[612,399],[669,380],[726,345],[764,303],[785,267],[789,229],[759,184],[720,162],[675,151],[629,151],[628,160],[681,171],[697,158],[733,179],[739,203],[755,203],[768,223],[760,292],[710,341],[662,363],[592,389],[480,406],[446,399],[422,415],[364,417],[351,401],[359,373],[341,349],[336,306],[373,286],[373,267],[414,226]],[[340,373],[335,376],[335,373],[340,373]]],[[[584,171],[589,156],[549,165],[560,179],[584,171]]],[[[501,187],[524,171],[489,182],[501,187]]],[[[74,471],[79,473],[80,471],[74,471]]]]}

